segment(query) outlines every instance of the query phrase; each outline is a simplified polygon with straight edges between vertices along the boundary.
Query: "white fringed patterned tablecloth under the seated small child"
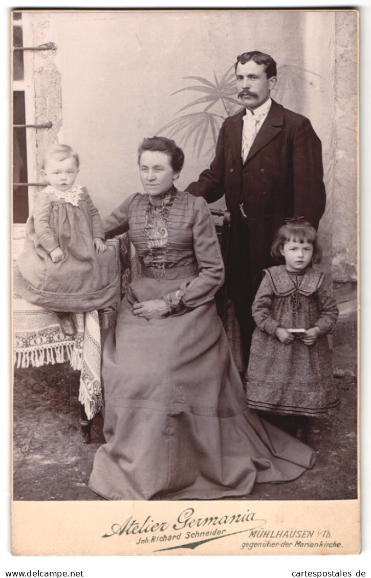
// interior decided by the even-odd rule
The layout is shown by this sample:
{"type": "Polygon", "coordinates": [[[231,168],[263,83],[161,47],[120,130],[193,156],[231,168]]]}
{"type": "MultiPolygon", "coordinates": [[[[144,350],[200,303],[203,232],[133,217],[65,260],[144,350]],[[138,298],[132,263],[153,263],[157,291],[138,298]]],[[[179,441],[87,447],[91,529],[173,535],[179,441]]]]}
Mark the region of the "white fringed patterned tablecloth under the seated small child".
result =
{"type": "Polygon", "coordinates": [[[80,371],[79,401],[89,419],[102,403],[101,329],[115,323],[116,307],[138,273],[134,247],[126,233],[107,243],[116,247],[120,294],[112,310],[99,316],[96,310],[74,314],[74,336],[64,335],[54,312],[32,305],[16,293],[13,295],[14,364],[17,368],[28,368],[69,361],[72,368],[80,371]]]}

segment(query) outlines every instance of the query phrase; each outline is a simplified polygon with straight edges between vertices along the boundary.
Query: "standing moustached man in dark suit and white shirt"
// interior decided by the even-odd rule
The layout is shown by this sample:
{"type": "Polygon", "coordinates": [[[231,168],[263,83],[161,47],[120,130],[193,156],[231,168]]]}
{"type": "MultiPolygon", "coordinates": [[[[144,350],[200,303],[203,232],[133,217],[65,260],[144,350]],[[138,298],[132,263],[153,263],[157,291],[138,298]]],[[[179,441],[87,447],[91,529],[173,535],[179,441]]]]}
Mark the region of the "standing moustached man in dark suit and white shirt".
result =
{"type": "Polygon", "coordinates": [[[303,216],[316,229],[325,210],[321,141],[310,121],[270,98],[276,62],[257,50],[237,57],[241,112],[227,118],[215,158],[187,190],[212,203],[225,194],[231,213],[227,296],[234,302],[247,365],[255,324],[251,305],[270,246],[286,217],[303,216]]]}

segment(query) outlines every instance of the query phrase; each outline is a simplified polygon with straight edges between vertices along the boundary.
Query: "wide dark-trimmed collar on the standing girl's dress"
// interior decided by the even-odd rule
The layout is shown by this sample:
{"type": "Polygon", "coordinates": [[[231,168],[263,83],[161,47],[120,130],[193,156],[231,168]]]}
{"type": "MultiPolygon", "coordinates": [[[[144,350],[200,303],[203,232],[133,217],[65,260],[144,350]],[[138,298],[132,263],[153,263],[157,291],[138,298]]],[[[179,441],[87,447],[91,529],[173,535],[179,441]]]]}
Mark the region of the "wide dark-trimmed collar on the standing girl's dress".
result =
{"type": "Polygon", "coordinates": [[[304,275],[289,275],[285,265],[270,267],[264,272],[270,276],[276,295],[291,295],[297,291],[300,295],[311,295],[321,287],[325,274],[308,267],[304,275]]]}

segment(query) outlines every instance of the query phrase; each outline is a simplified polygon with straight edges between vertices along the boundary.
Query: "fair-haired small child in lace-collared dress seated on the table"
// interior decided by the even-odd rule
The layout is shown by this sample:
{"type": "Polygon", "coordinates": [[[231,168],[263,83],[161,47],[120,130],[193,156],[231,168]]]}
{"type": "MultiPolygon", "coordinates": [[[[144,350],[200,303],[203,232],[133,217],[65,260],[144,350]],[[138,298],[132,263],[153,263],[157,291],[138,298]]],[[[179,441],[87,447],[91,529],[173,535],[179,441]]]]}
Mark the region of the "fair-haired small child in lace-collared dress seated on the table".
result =
{"type": "Polygon", "coordinates": [[[117,295],[116,257],[104,242],[98,210],[85,187],[75,185],[78,154],[67,144],[45,153],[38,193],[26,224],[14,288],[30,303],[57,313],[66,335],[74,335],[71,312],[103,309],[117,295]]]}

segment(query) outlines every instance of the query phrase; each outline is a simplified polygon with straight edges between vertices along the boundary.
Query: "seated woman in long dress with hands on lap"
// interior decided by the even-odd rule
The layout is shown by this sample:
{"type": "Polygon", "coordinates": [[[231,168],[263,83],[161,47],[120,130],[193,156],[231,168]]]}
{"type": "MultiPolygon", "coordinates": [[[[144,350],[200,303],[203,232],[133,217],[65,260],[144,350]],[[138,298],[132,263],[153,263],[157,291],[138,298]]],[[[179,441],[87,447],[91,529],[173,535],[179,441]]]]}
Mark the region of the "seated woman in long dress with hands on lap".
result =
{"type": "Polygon", "coordinates": [[[89,486],[116,500],[244,497],[255,483],[301,475],[314,452],[248,409],[216,312],[224,279],[203,198],[178,191],[174,141],[138,151],[145,194],[105,221],[120,225],[141,262],[103,346],[104,435],[89,486]]]}

